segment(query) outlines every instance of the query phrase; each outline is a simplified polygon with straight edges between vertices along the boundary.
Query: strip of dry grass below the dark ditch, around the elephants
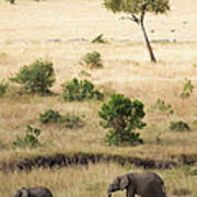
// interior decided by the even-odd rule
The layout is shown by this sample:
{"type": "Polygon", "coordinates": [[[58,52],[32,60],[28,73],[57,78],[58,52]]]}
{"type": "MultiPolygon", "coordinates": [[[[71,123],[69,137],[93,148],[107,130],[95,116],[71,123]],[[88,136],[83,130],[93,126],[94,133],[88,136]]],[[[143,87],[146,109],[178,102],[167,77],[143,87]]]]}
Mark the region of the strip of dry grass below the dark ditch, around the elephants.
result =
{"type": "MultiPolygon", "coordinates": [[[[55,197],[102,197],[106,196],[108,184],[117,175],[142,171],[141,169],[129,165],[121,167],[111,163],[81,167],[55,167],[54,170],[39,169],[33,170],[30,173],[0,173],[0,178],[3,179],[0,185],[0,190],[3,197],[10,197],[16,189],[23,186],[45,185],[51,189],[55,197]]],[[[184,169],[154,172],[164,179],[169,197],[181,196],[177,194],[183,189],[190,192],[190,194],[187,195],[188,197],[195,197],[197,195],[196,176],[189,175],[184,169]]],[[[125,192],[114,193],[113,196],[125,196],[125,192]]]]}

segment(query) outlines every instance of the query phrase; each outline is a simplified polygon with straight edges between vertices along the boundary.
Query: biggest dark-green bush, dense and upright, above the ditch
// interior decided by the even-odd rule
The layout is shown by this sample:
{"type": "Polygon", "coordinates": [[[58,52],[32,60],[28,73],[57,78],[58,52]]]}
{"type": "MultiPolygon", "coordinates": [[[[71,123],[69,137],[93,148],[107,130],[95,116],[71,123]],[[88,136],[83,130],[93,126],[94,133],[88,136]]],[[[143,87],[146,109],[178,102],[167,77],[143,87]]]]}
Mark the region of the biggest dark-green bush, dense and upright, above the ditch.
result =
{"type": "Polygon", "coordinates": [[[142,143],[139,132],[136,129],[142,129],[146,126],[141,119],[144,117],[143,104],[138,101],[130,101],[123,94],[113,94],[108,103],[102,105],[99,116],[100,123],[105,129],[108,144],[119,146],[129,143],[136,146],[142,143]]]}

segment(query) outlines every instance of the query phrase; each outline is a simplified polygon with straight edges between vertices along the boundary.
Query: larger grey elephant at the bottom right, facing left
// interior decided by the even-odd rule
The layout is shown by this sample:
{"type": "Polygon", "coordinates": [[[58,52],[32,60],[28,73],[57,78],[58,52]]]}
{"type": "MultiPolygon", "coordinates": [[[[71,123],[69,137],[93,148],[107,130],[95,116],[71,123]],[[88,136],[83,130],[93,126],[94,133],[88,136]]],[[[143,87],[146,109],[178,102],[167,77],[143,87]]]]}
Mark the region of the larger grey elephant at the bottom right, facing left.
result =
{"type": "Polygon", "coordinates": [[[108,197],[112,197],[112,193],[124,189],[126,197],[166,197],[163,179],[151,172],[117,176],[107,189],[108,197]]]}

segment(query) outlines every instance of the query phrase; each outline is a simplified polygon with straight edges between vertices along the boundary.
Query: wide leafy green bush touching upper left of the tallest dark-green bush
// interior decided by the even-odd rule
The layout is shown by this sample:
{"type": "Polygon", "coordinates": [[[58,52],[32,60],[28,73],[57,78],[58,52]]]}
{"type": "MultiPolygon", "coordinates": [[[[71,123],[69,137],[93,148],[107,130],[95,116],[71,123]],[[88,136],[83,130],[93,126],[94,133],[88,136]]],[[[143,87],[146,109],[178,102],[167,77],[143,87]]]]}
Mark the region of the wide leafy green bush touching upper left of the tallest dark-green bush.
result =
{"type": "Polygon", "coordinates": [[[62,97],[66,101],[103,100],[104,95],[94,90],[94,85],[88,80],[72,79],[62,84],[62,97]]]}

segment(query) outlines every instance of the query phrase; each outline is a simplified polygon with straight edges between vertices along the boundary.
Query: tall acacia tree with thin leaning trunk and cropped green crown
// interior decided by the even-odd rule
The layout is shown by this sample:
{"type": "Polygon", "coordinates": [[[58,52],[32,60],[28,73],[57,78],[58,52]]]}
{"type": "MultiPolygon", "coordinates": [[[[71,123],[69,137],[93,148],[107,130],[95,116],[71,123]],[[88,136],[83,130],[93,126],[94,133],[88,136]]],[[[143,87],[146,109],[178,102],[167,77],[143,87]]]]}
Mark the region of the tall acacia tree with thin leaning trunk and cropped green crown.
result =
{"type": "Polygon", "coordinates": [[[104,0],[104,5],[114,13],[125,12],[129,14],[128,19],[141,27],[151,61],[157,62],[144,27],[144,15],[148,12],[154,14],[165,13],[170,10],[169,0],[104,0]]]}

